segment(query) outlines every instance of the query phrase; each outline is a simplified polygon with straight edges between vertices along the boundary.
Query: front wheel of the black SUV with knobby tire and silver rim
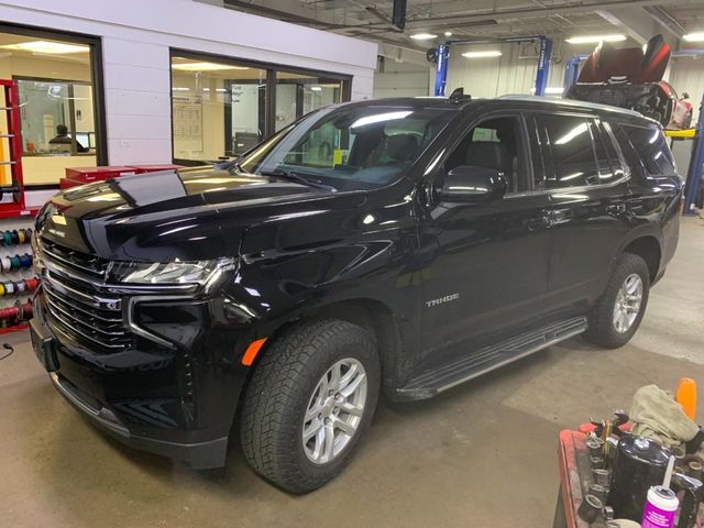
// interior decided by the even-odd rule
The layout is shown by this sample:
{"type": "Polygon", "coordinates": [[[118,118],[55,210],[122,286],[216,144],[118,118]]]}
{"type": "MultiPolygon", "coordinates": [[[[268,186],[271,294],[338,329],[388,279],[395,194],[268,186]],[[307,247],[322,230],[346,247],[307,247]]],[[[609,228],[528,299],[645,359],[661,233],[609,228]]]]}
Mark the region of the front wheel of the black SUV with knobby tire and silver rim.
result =
{"type": "MultiPolygon", "coordinates": [[[[242,451],[250,465],[264,479],[292,493],[308,493],[327,484],[344,469],[372,421],[381,377],[376,346],[364,329],[328,319],[289,329],[265,352],[244,396],[240,418],[242,451]],[[353,364],[354,370],[351,367],[353,364]],[[334,365],[341,365],[337,372],[343,381],[345,374],[355,376],[348,388],[364,374],[364,400],[355,406],[355,414],[361,416],[348,414],[342,407],[334,407],[338,414],[333,414],[336,411],[330,406],[340,402],[334,399],[336,396],[328,396],[324,399],[328,403],[319,406],[322,399],[320,395],[326,388],[334,386],[331,380],[334,365]],[[346,371],[345,365],[349,367],[346,371]],[[323,375],[329,385],[321,385],[323,375]],[[320,397],[314,394],[315,391],[320,393],[320,397]],[[338,424],[319,428],[327,440],[328,427],[332,427],[332,438],[336,439],[333,446],[338,446],[336,435],[339,436],[342,447],[329,457],[330,460],[326,460],[326,452],[330,452],[329,444],[320,441],[320,430],[304,442],[305,419],[310,419],[311,415],[314,418],[308,431],[323,421],[338,424]],[[344,431],[337,429],[343,420],[355,424],[355,429],[346,435],[344,443],[344,431]],[[318,450],[319,441],[321,448],[318,450]],[[311,452],[314,448],[320,455],[317,462],[314,461],[316,453],[311,452]]],[[[362,400],[364,380],[358,383],[352,399],[345,398],[341,406],[354,403],[358,397],[358,402],[362,400]]],[[[340,393],[343,391],[340,389],[340,393]]],[[[350,429],[350,426],[345,427],[350,429]]]]}

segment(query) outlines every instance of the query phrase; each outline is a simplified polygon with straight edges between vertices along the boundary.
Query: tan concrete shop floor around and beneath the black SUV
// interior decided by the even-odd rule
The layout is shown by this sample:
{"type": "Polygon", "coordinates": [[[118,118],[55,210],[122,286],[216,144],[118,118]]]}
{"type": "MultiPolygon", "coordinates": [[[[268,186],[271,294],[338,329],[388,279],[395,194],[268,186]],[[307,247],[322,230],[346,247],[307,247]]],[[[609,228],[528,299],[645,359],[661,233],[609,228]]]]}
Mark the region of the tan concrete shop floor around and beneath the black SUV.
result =
{"type": "Polygon", "coordinates": [[[260,480],[237,447],[226,470],[197,473],[107,439],[52,388],[26,336],[12,336],[0,362],[0,525],[551,526],[560,429],[628,408],[641,385],[704,380],[703,257],[703,222],[686,218],[630,344],[576,338],[433,400],[382,402],[348,470],[302,497],[260,480]]]}

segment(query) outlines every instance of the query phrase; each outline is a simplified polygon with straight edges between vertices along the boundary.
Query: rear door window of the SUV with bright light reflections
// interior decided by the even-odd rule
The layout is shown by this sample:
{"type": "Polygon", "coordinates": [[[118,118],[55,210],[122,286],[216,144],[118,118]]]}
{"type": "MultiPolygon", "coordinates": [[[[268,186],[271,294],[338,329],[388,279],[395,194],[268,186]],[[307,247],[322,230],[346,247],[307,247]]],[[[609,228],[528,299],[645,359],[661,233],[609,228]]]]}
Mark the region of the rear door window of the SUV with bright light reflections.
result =
{"type": "MultiPolygon", "coordinates": [[[[590,120],[571,116],[536,116],[546,157],[549,189],[600,183],[590,120]],[[550,163],[552,162],[552,163],[550,163]],[[552,165],[552,172],[549,169],[552,165]]],[[[603,154],[605,157],[605,154],[603,154]]],[[[601,163],[608,163],[601,160],[601,163]]]]}

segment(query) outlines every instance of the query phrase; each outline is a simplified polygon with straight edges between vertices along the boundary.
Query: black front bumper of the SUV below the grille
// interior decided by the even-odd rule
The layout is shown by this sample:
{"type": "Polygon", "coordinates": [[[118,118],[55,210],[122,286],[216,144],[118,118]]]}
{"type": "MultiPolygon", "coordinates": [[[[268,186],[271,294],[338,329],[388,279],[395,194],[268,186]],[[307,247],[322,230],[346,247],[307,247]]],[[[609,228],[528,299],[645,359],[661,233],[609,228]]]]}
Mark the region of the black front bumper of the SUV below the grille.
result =
{"type": "MultiPolygon", "coordinates": [[[[55,364],[50,376],[56,389],[106,433],[194,469],[219,468],[226,462],[246,377],[246,369],[233,354],[233,343],[244,330],[218,323],[217,299],[172,309],[175,315],[183,316],[184,310],[199,315],[178,321],[179,334],[191,338],[184,340],[187,346],[166,350],[135,339],[133,350],[106,354],[89,350],[54,324],[40,288],[34,298],[33,339],[38,334],[53,345],[55,364]]],[[[164,312],[164,307],[158,310],[164,312]]],[[[163,317],[155,328],[160,326],[163,317]]]]}

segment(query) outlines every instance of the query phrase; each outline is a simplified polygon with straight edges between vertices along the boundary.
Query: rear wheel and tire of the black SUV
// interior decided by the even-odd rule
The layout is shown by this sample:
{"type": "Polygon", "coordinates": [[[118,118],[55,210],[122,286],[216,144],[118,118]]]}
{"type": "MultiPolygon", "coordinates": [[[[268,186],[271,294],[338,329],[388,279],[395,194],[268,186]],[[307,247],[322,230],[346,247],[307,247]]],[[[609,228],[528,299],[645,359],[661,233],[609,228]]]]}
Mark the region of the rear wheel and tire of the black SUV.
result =
{"type": "MultiPolygon", "coordinates": [[[[588,328],[583,333],[583,338],[590,343],[605,349],[617,349],[626,344],[640,326],[648,305],[649,292],[650,272],[648,265],[640,256],[624,253],[608,280],[604,295],[602,295],[588,315],[588,328]],[[631,286],[637,285],[636,276],[640,279],[641,297],[635,318],[626,326],[623,310],[619,310],[622,312],[620,319],[616,320],[616,302],[619,299],[619,292],[627,279],[631,279],[629,283],[631,286]],[[622,328],[619,329],[618,326],[622,326],[622,328]]],[[[629,301],[629,306],[632,308],[634,302],[629,301]]],[[[634,311],[630,311],[627,317],[630,317],[630,314],[634,314],[634,311]]]]}

